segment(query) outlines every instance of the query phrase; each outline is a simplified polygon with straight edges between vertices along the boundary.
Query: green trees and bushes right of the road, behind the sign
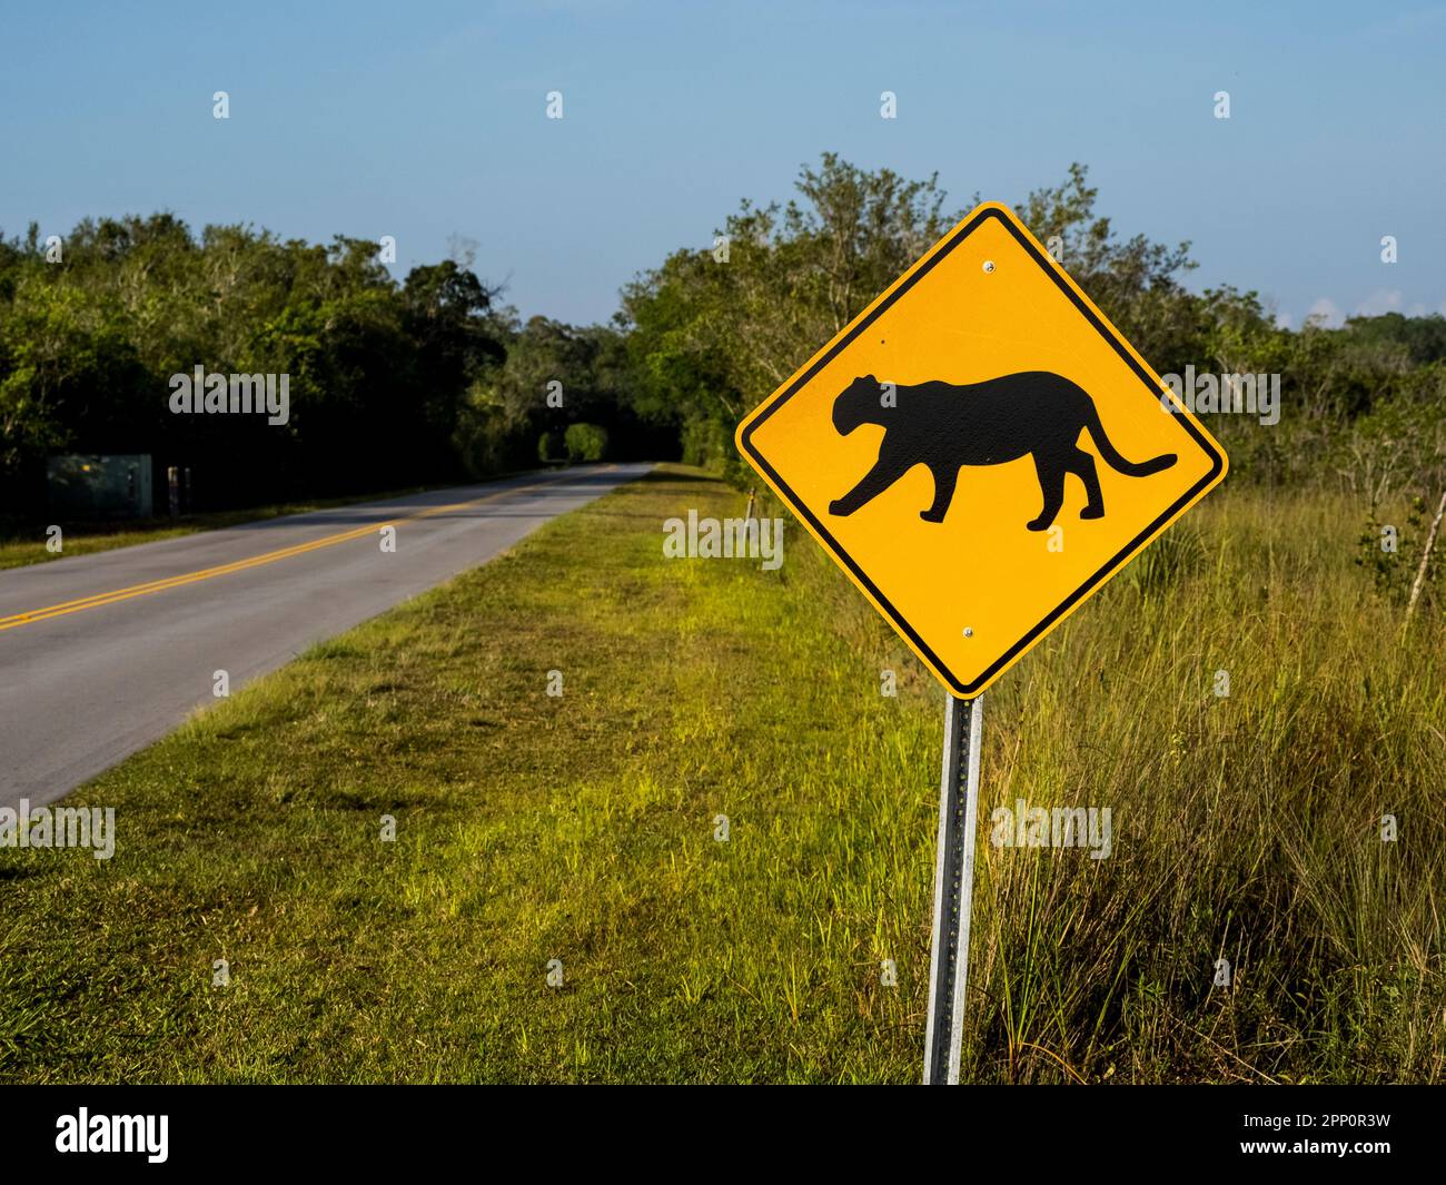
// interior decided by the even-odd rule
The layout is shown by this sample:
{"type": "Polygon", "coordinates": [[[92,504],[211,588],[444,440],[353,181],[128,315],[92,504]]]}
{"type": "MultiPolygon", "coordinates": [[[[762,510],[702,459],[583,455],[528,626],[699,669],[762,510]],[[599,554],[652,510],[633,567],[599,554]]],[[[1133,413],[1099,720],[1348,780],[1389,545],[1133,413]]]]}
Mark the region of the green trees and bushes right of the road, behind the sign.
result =
{"type": "MultiPolygon", "coordinates": [[[[745,201],[724,250],[678,250],[623,294],[641,399],[683,421],[684,459],[737,476],[732,430],[966,211],[934,178],[833,155],[787,205],[745,201]]],[[[1189,243],[1121,239],[1080,165],[1017,205],[1035,236],[1160,373],[1280,375],[1280,422],[1206,415],[1236,479],[1326,480],[1371,505],[1446,483],[1446,320],[1275,324],[1255,292],[1192,292],[1189,243]],[[1056,240],[1056,242],[1051,242],[1056,240]]]]}

